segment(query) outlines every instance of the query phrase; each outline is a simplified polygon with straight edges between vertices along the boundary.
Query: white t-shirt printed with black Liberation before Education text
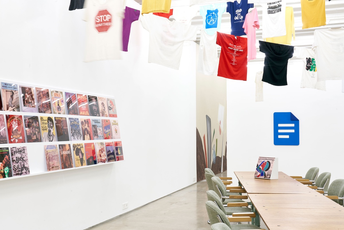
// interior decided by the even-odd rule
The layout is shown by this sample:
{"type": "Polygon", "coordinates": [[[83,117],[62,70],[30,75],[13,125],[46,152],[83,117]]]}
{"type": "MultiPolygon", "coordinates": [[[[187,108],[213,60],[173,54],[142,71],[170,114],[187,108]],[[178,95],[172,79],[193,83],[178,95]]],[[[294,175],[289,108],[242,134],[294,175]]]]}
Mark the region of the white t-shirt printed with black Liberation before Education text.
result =
{"type": "Polygon", "coordinates": [[[286,0],[260,3],[262,13],[262,38],[286,35],[286,0]]]}

